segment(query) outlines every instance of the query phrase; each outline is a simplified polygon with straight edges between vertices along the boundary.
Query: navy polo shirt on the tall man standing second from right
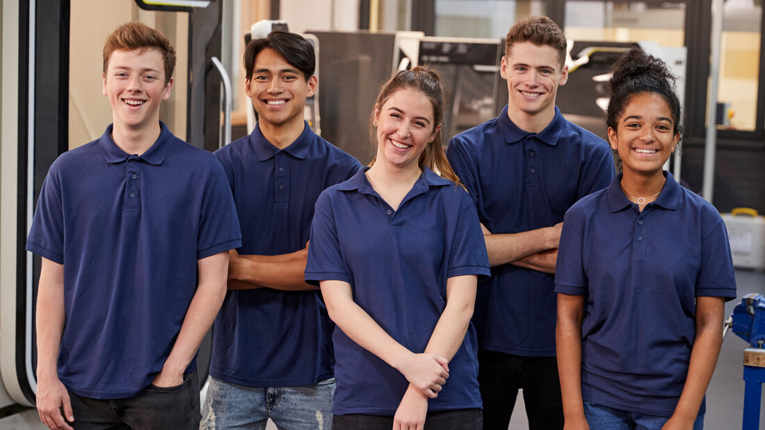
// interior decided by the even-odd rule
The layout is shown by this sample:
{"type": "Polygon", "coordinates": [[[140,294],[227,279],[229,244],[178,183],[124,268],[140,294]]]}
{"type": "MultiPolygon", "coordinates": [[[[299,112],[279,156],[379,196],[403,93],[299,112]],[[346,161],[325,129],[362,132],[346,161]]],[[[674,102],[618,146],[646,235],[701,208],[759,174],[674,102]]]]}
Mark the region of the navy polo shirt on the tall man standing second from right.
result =
{"type": "MultiPolygon", "coordinates": [[[[505,106],[499,117],[453,137],[447,157],[494,234],[555,225],[574,202],[614,178],[610,147],[558,108],[547,128],[528,133],[505,106]]],[[[512,264],[492,267],[491,275],[478,289],[473,318],[480,349],[554,357],[554,276],[512,264]]]]}

